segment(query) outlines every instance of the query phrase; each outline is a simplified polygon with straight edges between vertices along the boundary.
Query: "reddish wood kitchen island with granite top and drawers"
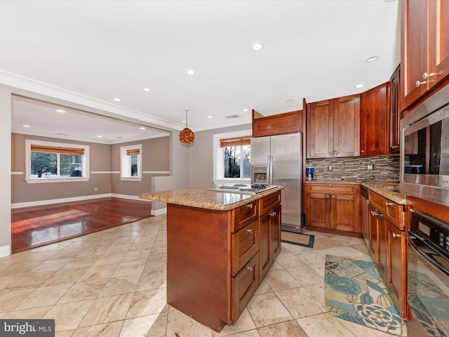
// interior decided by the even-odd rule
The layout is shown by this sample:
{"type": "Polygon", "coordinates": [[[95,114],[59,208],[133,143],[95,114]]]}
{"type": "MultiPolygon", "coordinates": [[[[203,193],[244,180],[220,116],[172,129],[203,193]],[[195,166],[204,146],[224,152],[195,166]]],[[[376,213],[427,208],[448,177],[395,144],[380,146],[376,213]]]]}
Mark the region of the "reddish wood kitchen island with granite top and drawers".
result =
{"type": "Polygon", "coordinates": [[[215,331],[236,322],[281,251],[282,188],[140,195],[167,203],[168,305],[215,331]]]}

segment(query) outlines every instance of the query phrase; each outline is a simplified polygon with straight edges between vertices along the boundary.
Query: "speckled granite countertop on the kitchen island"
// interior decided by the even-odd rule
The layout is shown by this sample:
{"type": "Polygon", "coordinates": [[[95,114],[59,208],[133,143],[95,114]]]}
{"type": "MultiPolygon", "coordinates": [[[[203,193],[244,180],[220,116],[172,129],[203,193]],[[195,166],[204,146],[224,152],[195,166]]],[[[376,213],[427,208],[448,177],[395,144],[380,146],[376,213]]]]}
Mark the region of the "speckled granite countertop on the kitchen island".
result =
{"type": "Polygon", "coordinates": [[[199,207],[201,209],[227,211],[229,209],[236,209],[237,207],[283,189],[282,186],[276,186],[270,190],[257,194],[242,194],[208,191],[207,188],[208,187],[195,187],[182,190],[147,192],[140,194],[140,199],[161,201],[166,202],[167,204],[199,207]]]}

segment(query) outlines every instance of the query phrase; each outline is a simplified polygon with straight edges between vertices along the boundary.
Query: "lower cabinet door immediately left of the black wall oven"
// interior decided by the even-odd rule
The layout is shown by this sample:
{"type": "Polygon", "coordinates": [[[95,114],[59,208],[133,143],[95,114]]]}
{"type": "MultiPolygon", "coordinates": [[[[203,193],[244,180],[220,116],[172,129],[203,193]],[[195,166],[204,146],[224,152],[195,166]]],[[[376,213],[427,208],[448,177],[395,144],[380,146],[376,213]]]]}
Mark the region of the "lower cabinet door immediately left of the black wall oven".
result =
{"type": "Polygon", "coordinates": [[[387,287],[401,315],[405,315],[406,232],[389,221],[387,227],[387,287]]]}

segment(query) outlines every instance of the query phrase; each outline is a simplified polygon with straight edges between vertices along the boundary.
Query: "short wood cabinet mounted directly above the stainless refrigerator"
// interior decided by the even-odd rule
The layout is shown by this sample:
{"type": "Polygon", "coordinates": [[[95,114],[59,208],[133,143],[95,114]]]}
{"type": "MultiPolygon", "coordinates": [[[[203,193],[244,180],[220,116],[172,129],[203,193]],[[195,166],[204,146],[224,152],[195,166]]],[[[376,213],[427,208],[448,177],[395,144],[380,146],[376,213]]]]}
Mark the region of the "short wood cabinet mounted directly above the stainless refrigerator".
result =
{"type": "Polygon", "coordinates": [[[302,110],[264,117],[253,110],[253,137],[275,136],[302,131],[302,110]]]}

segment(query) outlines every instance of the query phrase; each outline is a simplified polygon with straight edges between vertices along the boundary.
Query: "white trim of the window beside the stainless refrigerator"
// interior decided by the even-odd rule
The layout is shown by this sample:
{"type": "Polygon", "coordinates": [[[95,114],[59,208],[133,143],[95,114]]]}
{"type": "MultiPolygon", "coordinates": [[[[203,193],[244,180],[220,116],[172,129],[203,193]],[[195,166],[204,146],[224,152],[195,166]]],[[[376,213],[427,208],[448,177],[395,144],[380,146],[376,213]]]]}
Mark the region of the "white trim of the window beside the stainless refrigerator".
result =
{"type": "Polygon", "coordinates": [[[225,178],[225,172],[223,170],[223,151],[220,145],[220,139],[222,138],[234,138],[234,137],[244,137],[252,135],[253,130],[242,130],[227,133],[215,133],[213,135],[213,183],[250,183],[250,178],[225,178]]]}

